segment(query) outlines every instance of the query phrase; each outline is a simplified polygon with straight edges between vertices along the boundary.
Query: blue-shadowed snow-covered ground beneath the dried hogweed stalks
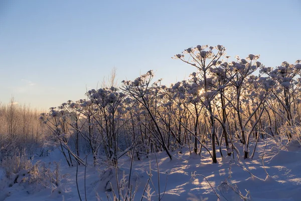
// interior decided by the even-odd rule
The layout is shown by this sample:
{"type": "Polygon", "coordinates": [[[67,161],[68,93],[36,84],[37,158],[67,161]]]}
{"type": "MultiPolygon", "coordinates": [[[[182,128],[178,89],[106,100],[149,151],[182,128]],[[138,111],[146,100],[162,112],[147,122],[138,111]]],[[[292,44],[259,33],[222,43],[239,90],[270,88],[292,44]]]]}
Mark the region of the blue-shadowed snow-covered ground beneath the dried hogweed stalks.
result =
{"type": "MultiPolygon", "coordinates": [[[[217,200],[218,197],[220,200],[243,200],[243,196],[246,200],[247,197],[250,200],[301,200],[301,149],[298,145],[292,144],[285,149],[270,142],[265,148],[264,163],[262,152],[265,142],[258,143],[253,159],[244,160],[241,157],[238,160],[235,154],[235,159],[219,159],[218,164],[211,163],[205,149],[201,156],[190,155],[187,148],[183,148],[182,153],[180,150],[174,151],[172,161],[165,152],[150,154],[141,160],[134,158],[130,179],[132,192],[136,189],[133,200],[141,200],[147,181],[150,188],[146,188],[143,200],[148,200],[146,197],[149,194],[152,194],[150,200],[159,200],[158,184],[162,200],[217,200]],[[150,179],[149,175],[152,175],[150,179]]],[[[238,144],[237,147],[242,155],[243,147],[238,144]]],[[[251,146],[250,150],[252,149],[251,146]]],[[[220,156],[219,153],[217,155],[220,156]]],[[[76,185],[76,166],[68,167],[58,150],[54,150],[49,156],[35,157],[33,163],[38,160],[49,166],[54,161],[60,162],[62,179],[59,187],[44,188],[23,182],[22,178],[12,182],[6,178],[5,171],[0,169],[0,201],[80,200],[76,185]]],[[[88,161],[92,162],[90,158],[88,161]]],[[[100,162],[99,166],[87,167],[86,176],[85,168],[79,166],[78,188],[81,199],[111,200],[107,195],[112,198],[113,191],[118,197],[116,172],[122,194],[122,189],[128,186],[130,162],[131,158],[124,156],[118,160],[118,170],[100,162]]]]}

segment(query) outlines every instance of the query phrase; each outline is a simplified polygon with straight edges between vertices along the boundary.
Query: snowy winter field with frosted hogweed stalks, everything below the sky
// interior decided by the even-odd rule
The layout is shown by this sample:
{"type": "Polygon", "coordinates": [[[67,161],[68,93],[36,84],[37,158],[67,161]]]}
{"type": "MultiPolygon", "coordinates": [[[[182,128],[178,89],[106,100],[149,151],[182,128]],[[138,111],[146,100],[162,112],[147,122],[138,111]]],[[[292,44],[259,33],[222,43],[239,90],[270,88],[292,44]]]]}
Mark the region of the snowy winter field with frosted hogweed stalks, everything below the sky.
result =
{"type": "Polygon", "coordinates": [[[301,200],[301,61],[174,58],[195,72],[170,86],[113,71],[46,113],[1,105],[0,201],[301,200]]]}

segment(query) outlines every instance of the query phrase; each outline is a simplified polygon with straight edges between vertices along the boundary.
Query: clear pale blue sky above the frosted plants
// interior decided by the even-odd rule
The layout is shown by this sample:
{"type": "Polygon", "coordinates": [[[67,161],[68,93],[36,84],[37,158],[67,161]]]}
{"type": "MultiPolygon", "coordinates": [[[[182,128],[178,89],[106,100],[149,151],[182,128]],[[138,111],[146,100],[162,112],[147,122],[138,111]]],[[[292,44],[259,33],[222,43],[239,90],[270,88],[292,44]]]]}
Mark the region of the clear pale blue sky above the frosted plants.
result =
{"type": "Polygon", "coordinates": [[[301,59],[300,1],[0,0],[0,102],[47,111],[85,98],[116,69],[169,85],[196,71],[175,54],[223,45],[265,66],[301,59]]]}

